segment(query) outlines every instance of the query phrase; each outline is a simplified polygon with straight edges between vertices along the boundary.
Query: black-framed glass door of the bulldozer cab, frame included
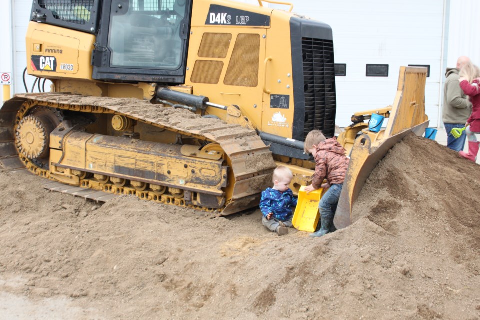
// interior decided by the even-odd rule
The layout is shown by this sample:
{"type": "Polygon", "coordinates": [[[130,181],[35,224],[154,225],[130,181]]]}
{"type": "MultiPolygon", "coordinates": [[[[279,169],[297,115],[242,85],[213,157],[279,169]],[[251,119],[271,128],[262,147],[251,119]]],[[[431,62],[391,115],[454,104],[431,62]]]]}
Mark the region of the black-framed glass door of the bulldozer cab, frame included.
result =
{"type": "Polygon", "coordinates": [[[97,80],[183,83],[191,1],[103,1],[93,51],[97,80]]]}

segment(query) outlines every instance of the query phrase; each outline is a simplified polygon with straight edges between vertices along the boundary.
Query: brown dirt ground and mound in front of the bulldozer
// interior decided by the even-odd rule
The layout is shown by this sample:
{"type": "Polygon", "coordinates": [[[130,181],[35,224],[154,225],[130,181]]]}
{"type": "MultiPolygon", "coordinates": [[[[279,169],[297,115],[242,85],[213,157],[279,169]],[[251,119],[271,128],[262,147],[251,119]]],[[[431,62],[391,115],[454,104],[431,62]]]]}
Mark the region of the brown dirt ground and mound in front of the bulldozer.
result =
{"type": "Polygon", "coordinates": [[[389,151],[355,203],[365,217],[320,239],[278,237],[258,210],[99,205],[41,182],[0,172],[2,305],[66,296],[77,319],[480,317],[480,166],[432,140],[389,151]]]}

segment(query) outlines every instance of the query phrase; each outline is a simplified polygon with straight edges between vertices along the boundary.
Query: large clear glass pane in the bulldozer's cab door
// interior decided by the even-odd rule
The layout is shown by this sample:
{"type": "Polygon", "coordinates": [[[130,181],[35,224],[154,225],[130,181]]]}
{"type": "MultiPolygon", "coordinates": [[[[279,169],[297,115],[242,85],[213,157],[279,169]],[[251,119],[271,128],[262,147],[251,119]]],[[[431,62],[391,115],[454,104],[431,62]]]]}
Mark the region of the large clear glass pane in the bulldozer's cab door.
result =
{"type": "Polygon", "coordinates": [[[113,0],[108,48],[112,67],[177,69],[185,0],[113,0]]]}

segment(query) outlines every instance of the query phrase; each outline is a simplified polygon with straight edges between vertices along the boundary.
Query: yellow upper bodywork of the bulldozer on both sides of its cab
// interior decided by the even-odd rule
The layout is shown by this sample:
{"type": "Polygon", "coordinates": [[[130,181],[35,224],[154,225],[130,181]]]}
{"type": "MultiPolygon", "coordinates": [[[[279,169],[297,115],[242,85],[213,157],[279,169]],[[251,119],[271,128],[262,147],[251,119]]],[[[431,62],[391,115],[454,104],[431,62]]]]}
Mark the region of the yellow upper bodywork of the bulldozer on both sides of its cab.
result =
{"type": "MultiPolygon", "coordinates": [[[[294,108],[272,108],[270,94],[293,101],[289,20],[293,13],[225,0],[195,0],[192,7],[185,83],[174,90],[208,96],[221,105],[241,106],[254,128],[292,137],[294,108]],[[210,5],[269,15],[270,26],[205,25],[210,5]],[[281,43],[267,46],[270,43],[281,43]],[[185,88],[186,87],[186,88],[185,88]],[[288,97],[288,98],[287,98],[288,97]]],[[[30,22],[27,35],[28,74],[52,80],[57,92],[152,99],[155,85],[94,81],[95,36],[44,23],[30,22]]],[[[283,100],[282,100],[283,101],[283,100]]],[[[280,102],[286,103],[286,102],[280,102]]],[[[223,120],[223,110],[208,109],[223,120]]]]}

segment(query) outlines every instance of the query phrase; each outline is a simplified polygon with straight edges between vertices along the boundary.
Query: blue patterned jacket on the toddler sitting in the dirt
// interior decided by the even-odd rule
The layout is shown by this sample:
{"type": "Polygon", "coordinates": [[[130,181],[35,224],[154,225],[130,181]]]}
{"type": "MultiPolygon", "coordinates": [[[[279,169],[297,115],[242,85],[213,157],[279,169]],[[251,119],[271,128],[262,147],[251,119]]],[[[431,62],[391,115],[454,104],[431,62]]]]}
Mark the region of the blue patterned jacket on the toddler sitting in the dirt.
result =
{"type": "Polygon", "coordinates": [[[290,220],[293,213],[291,208],[296,206],[297,199],[293,196],[291,189],[285,192],[267,188],[261,192],[260,209],[263,216],[273,212],[273,217],[280,220],[290,220]]]}

